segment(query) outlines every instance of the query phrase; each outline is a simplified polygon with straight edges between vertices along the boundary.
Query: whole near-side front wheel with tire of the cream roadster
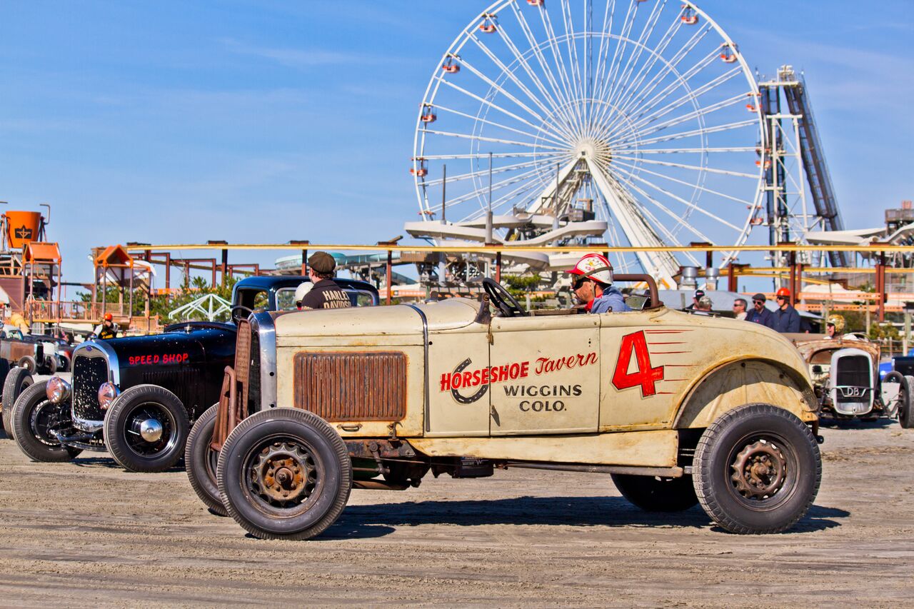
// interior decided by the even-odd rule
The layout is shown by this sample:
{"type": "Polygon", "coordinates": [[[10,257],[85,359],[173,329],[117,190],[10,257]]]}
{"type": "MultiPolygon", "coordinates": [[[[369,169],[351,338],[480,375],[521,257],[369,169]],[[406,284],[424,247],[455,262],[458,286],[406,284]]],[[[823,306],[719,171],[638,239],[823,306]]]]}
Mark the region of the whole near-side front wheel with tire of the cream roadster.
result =
{"type": "Polygon", "coordinates": [[[308,540],[343,512],[352,463],[342,438],[319,416],[276,408],[228,434],[216,477],[228,514],[252,535],[308,540]]]}

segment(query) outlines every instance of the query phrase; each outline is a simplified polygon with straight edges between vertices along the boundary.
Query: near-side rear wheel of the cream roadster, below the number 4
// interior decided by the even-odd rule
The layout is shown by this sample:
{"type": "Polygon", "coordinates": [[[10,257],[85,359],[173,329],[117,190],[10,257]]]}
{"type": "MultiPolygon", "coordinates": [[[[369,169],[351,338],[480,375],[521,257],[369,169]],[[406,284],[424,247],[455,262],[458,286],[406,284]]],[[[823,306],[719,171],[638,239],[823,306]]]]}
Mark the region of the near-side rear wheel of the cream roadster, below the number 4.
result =
{"type": "Polygon", "coordinates": [[[701,507],[732,533],[779,533],[813,505],[822,457],[809,427],[771,404],[748,404],[712,422],[693,475],[701,507]]]}

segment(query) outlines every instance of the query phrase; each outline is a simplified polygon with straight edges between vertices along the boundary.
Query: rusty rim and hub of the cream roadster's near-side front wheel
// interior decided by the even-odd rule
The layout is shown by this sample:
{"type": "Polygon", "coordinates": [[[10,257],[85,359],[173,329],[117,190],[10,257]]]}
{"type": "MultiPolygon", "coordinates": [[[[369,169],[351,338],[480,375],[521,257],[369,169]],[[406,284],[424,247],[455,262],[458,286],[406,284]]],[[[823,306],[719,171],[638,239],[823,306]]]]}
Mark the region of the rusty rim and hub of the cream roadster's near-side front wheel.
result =
{"type": "Polygon", "coordinates": [[[272,443],[254,460],[250,482],[253,490],[271,503],[301,503],[311,497],[317,485],[314,456],[298,444],[272,443]]]}

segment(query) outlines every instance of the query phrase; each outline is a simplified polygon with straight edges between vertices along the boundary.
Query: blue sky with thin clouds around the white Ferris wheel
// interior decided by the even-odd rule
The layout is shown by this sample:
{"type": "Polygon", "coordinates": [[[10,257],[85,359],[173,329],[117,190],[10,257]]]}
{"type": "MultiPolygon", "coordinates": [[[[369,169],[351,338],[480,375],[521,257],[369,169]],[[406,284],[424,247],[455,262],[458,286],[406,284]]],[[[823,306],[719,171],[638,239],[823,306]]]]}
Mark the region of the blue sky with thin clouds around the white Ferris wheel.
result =
{"type": "MultiPolygon", "coordinates": [[[[761,72],[805,71],[847,226],[914,198],[914,2],[700,5],[761,72]]],[[[417,106],[485,6],[2,2],[0,200],[52,205],[69,281],[127,240],[401,234],[417,106]]]]}

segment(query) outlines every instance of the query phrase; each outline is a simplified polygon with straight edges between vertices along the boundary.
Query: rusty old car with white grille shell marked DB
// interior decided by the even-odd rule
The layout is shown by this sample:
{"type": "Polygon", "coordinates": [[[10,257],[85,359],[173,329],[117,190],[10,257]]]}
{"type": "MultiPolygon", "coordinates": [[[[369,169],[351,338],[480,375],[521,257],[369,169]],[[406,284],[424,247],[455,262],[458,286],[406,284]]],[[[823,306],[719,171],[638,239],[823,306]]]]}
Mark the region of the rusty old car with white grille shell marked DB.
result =
{"type": "Polygon", "coordinates": [[[911,394],[914,377],[889,372],[879,378],[880,349],[859,334],[788,335],[809,366],[821,412],[838,422],[898,418],[902,427],[914,425],[911,394]]]}

